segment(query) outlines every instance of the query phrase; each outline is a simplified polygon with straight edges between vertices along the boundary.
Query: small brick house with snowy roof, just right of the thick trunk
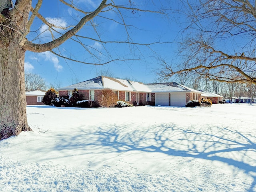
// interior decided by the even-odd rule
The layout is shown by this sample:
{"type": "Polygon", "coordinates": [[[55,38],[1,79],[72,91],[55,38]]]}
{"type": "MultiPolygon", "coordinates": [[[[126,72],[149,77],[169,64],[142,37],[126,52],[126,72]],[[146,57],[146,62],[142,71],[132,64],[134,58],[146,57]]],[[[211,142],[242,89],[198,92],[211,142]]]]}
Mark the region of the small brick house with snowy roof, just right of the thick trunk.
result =
{"type": "Polygon", "coordinates": [[[42,99],[46,91],[41,89],[26,90],[27,105],[44,105],[42,99]]]}

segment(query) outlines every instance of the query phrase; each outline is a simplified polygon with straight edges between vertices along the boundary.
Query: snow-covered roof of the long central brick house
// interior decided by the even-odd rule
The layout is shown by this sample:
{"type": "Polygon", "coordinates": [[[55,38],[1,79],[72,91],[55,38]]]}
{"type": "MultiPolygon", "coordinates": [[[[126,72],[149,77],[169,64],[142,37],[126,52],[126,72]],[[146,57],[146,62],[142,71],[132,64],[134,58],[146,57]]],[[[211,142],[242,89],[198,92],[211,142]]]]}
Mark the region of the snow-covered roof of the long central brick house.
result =
{"type": "Polygon", "coordinates": [[[59,88],[58,90],[73,90],[77,88],[78,90],[92,90],[92,89],[104,89],[109,88],[112,90],[121,91],[136,91],[136,92],[196,92],[202,93],[200,91],[188,88],[186,86],[180,85],[176,82],[172,83],[153,83],[153,84],[143,84],[140,82],[111,78],[105,76],[99,76],[84,82],[59,88]]]}

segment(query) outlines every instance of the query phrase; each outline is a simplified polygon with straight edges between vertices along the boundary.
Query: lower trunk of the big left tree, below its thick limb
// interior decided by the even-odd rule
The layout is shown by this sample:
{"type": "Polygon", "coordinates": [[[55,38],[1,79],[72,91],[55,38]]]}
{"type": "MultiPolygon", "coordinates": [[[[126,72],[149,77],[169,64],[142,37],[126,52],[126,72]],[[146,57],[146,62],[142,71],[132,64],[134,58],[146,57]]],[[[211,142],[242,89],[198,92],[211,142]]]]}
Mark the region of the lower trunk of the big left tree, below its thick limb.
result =
{"type": "Polygon", "coordinates": [[[0,48],[0,140],[31,130],[26,116],[25,52],[15,39],[0,48]]]}

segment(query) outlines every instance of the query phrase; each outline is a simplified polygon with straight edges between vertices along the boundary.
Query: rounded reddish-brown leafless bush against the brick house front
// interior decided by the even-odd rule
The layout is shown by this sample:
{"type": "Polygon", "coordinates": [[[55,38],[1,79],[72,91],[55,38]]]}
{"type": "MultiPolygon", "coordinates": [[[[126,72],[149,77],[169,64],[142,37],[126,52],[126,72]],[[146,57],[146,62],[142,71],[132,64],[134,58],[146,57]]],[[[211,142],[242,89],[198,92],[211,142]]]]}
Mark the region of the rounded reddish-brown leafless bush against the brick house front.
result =
{"type": "Polygon", "coordinates": [[[114,107],[117,101],[116,94],[111,89],[102,90],[102,98],[100,99],[100,106],[102,107],[114,107]]]}

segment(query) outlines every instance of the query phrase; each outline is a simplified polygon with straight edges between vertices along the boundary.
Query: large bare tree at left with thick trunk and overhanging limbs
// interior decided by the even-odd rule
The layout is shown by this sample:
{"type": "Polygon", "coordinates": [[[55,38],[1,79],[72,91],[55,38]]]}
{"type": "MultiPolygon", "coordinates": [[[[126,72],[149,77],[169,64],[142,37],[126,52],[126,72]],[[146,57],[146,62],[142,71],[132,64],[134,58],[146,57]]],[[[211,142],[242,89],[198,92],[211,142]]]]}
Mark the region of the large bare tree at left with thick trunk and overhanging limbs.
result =
{"type": "MultiPolygon", "coordinates": [[[[66,61],[93,65],[139,60],[140,57],[134,56],[135,50],[143,46],[153,51],[152,46],[161,42],[150,42],[150,40],[135,42],[129,29],[136,28],[126,23],[126,18],[130,20],[137,13],[168,14],[166,8],[157,7],[157,5],[162,6],[161,3],[158,4],[151,0],[143,1],[143,3],[151,3],[150,7],[154,10],[147,10],[146,6],[141,3],[140,6],[136,6],[128,0],[92,1],[94,8],[82,7],[82,4],[76,0],[58,0],[58,4],[56,1],[44,1],[43,3],[42,0],[14,0],[13,8],[10,6],[10,0],[0,2],[0,7],[3,7],[0,14],[0,140],[16,136],[21,131],[31,130],[26,117],[24,83],[26,51],[36,53],[48,51],[66,61]],[[44,12],[40,12],[40,8],[49,2],[56,5],[56,16],[58,16],[59,8],[74,12],[73,16],[69,17],[70,26],[47,18],[44,12]],[[96,22],[97,19],[100,22],[96,22]],[[119,25],[123,29],[122,32],[120,31],[122,35],[109,39],[107,34],[110,32],[106,30],[99,32],[100,26],[104,28],[107,22],[119,25]],[[70,45],[71,41],[76,42],[82,50],[80,54],[72,53],[72,47],[61,46],[70,45]],[[97,49],[94,43],[102,49],[97,49]],[[109,51],[110,47],[118,48],[120,44],[128,45],[129,54],[119,55],[109,51]],[[64,51],[64,48],[70,51],[69,54],[64,51]],[[90,56],[85,57],[85,52],[90,56]]],[[[54,15],[54,12],[51,14],[54,15]]]]}

